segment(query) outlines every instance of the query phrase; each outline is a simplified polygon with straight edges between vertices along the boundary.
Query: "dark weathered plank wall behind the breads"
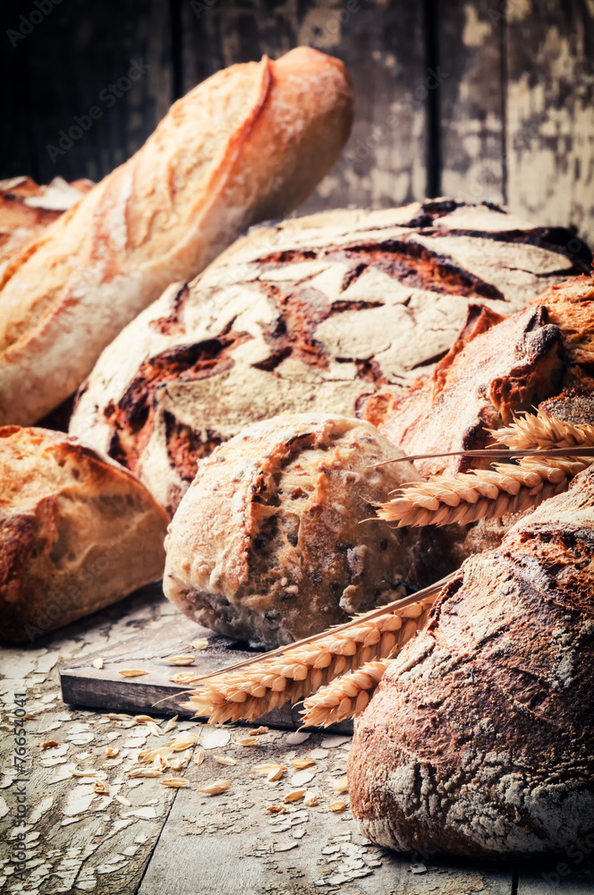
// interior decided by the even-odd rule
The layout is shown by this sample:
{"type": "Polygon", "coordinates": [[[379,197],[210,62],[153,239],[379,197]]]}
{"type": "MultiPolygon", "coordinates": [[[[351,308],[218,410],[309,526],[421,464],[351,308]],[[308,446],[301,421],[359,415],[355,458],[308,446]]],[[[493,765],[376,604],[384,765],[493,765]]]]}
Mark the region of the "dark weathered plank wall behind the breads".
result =
{"type": "Polygon", "coordinates": [[[0,19],[0,176],[96,180],[217,69],[309,44],[344,60],[357,106],[302,211],[450,194],[594,242],[594,0],[4,0],[0,19]],[[126,88],[132,61],[149,67],[126,88]]]}

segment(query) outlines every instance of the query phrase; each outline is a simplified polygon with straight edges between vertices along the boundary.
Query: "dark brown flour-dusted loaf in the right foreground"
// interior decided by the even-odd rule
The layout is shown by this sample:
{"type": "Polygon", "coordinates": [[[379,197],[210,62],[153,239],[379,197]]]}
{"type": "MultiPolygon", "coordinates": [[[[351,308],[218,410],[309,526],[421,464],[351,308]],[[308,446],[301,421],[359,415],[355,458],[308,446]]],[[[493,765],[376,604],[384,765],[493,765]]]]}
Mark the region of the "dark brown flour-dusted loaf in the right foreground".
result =
{"type": "Polygon", "coordinates": [[[349,791],[369,839],[517,857],[592,830],[593,544],[590,467],[446,586],[356,724],[349,791]]]}

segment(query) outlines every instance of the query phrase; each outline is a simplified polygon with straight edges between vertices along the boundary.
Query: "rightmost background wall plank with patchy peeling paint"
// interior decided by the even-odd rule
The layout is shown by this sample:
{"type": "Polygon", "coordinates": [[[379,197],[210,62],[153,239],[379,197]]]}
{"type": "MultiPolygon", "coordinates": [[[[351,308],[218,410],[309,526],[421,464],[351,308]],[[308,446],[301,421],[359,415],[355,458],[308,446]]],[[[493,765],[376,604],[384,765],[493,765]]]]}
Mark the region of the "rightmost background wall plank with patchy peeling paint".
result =
{"type": "Polygon", "coordinates": [[[507,4],[509,206],[594,234],[594,8],[507,4]]]}

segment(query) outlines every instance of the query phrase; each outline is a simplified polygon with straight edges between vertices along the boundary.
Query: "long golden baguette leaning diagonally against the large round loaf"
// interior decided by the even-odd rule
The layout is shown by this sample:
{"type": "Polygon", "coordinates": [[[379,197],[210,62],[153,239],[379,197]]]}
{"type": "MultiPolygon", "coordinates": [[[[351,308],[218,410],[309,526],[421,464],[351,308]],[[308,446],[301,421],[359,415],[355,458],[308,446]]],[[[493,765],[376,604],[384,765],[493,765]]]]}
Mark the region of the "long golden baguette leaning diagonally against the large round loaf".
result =
{"type": "Polygon", "coordinates": [[[344,66],[299,47],[178,100],[145,145],[48,226],[0,280],[0,423],[60,404],[174,280],[306,198],[352,119],[344,66]]]}

